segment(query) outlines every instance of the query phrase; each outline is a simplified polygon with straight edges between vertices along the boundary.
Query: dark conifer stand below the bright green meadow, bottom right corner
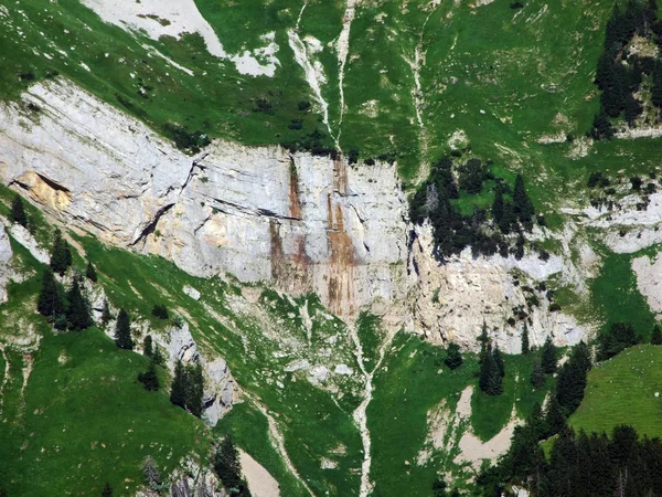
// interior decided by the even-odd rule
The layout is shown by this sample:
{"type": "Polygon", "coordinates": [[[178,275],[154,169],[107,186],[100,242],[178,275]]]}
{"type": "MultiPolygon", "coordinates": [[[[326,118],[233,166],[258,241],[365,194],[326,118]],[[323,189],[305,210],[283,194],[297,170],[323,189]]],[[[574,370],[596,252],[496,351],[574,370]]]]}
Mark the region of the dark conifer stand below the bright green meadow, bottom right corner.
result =
{"type": "Polygon", "coordinates": [[[504,484],[525,486],[534,497],[655,496],[662,488],[662,442],[639,438],[629,426],[617,426],[611,437],[563,426],[548,462],[537,444],[531,417],[515,429],[511,447],[496,467],[478,478],[485,490],[504,484]],[[542,457],[541,457],[542,456],[542,457]]]}

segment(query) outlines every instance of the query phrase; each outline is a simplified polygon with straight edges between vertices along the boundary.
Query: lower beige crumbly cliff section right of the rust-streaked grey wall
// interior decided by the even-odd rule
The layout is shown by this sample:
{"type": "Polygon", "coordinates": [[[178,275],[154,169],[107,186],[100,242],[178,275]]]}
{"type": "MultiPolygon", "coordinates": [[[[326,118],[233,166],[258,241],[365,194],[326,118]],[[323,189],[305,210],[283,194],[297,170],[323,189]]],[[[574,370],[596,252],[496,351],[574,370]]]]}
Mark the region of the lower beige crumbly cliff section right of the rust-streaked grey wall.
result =
{"type": "Polygon", "coordinates": [[[484,324],[502,350],[520,353],[524,326],[532,346],[543,345],[547,336],[560,346],[575,345],[589,331],[573,317],[549,310],[541,283],[551,277],[572,278],[576,271],[562,257],[485,258],[472,257],[466,250],[442,264],[431,252],[430,226],[417,228],[409,260],[417,279],[409,298],[410,314],[413,328],[423,330],[429,340],[478,350],[476,337],[484,324]]]}

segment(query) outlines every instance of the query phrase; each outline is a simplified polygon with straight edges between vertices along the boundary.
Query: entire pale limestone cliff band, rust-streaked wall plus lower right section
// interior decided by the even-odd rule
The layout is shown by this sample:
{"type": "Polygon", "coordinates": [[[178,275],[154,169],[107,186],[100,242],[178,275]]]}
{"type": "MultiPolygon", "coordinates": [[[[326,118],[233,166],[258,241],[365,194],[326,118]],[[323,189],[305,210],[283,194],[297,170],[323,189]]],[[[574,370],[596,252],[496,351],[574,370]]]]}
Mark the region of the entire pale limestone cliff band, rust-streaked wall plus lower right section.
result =
{"type": "MultiPolygon", "coordinates": [[[[573,343],[586,334],[549,313],[540,292],[541,304],[528,306],[532,296],[513,283],[513,272],[522,285],[556,274],[573,279],[558,257],[463,256],[439,265],[429,232],[408,223],[394,165],[352,167],[220,140],[190,157],[64,80],[32,85],[23,101],[41,110],[0,107],[0,179],[105,242],[160,254],[197,276],[228,273],[288,294],[314,292],[350,322],[369,309],[392,329],[467,348],[483,319],[509,352],[519,350],[525,321],[532,343],[547,334],[573,343]],[[508,325],[524,306],[526,317],[508,325]]],[[[193,349],[180,338],[188,340],[171,337],[170,357],[190,359],[193,349]]],[[[211,417],[232,396],[225,387],[215,393],[206,399],[211,417]]]]}

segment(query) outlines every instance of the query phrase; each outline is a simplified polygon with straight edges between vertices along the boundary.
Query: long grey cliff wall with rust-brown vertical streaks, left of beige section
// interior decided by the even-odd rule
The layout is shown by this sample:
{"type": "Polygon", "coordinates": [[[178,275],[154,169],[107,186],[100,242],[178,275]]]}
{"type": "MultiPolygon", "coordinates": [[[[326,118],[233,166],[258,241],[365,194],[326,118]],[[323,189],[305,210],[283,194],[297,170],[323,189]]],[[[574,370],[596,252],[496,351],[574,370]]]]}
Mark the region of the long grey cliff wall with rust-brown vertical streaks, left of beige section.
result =
{"type": "Polygon", "coordinates": [[[194,158],[70,83],[23,98],[41,110],[0,109],[2,181],[100,240],[200,276],[316,292],[343,316],[396,297],[406,202],[395,167],[224,141],[194,158]]]}

